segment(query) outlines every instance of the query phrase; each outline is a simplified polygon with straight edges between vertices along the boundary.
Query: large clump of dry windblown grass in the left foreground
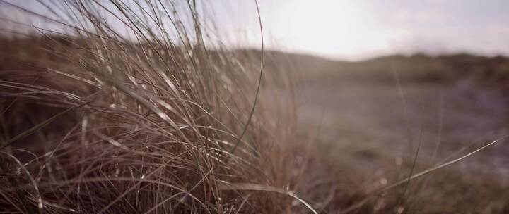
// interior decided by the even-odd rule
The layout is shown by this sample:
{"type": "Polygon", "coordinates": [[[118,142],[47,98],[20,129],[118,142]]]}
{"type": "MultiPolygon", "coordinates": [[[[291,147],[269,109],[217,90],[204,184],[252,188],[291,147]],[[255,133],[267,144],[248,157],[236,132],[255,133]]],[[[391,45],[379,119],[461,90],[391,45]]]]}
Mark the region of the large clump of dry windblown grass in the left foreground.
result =
{"type": "Polygon", "coordinates": [[[34,27],[58,60],[4,68],[2,210],[312,210],[291,191],[296,143],[254,111],[256,66],[214,45],[195,1],[40,1],[51,14],[3,4],[62,31],[34,27]],[[25,120],[24,106],[47,118],[22,130],[9,120],[25,120]]]}

